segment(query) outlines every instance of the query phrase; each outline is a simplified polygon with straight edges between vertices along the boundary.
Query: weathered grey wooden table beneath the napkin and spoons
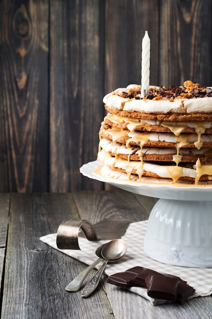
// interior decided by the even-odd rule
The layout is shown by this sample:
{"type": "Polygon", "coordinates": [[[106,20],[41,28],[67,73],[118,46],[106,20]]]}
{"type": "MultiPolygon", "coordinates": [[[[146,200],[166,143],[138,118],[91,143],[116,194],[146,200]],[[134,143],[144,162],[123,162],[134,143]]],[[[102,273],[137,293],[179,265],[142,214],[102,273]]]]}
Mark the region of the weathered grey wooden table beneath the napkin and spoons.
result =
{"type": "Polygon", "coordinates": [[[2,318],[211,318],[211,297],[184,305],[150,305],[101,280],[89,298],[65,286],[86,265],[39,238],[70,218],[95,223],[111,216],[145,220],[156,199],[115,190],[72,194],[0,194],[0,275],[2,318]]]}

